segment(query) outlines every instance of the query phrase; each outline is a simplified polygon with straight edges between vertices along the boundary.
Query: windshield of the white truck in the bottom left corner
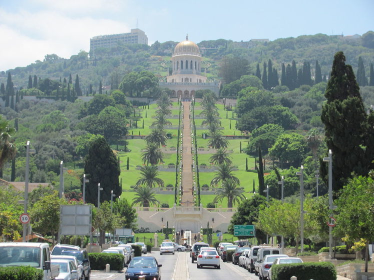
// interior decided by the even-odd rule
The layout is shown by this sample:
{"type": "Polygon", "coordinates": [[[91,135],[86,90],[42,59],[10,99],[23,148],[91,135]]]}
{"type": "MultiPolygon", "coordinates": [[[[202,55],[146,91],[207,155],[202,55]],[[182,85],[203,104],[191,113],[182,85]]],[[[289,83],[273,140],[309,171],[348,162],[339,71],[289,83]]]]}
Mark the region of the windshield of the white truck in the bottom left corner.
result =
{"type": "Polygon", "coordinates": [[[0,266],[40,266],[40,248],[0,247],[0,266]]]}

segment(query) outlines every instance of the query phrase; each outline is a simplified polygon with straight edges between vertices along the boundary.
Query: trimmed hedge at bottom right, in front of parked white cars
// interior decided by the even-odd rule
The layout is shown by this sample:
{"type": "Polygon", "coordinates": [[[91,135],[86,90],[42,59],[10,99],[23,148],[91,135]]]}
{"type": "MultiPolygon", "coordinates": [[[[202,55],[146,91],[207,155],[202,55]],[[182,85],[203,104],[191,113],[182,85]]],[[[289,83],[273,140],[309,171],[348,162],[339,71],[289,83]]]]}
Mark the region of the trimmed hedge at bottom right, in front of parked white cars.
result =
{"type": "Polygon", "coordinates": [[[289,280],[292,276],[297,280],[336,280],[336,270],[330,262],[276,264],[271,270],[272,280],[289,280]]]}

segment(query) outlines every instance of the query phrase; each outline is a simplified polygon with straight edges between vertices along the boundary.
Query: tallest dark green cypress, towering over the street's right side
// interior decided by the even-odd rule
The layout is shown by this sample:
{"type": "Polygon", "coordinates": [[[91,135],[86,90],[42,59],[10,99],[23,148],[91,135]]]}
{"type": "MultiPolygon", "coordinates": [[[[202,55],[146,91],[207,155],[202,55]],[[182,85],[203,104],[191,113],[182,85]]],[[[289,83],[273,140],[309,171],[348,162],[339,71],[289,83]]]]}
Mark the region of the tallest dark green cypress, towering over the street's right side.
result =
{"type": "MultiPolygon", "coordinates": [[[[373,167],[374,156],[373,144],[365,142],[374,138],[372,125],[369,127],[366,121],[359,86],[352,67],[345,64],[342,51],[335,53],[325,97],[327,102],[322,106],[321,120],[325,125],[326,145],[332,150],[332,187],[336,191],[347,182],[352,172],[367,175],[373,167]]],[[[321,178],[327,184],[327,164],[320,163],[321,178]]]]}

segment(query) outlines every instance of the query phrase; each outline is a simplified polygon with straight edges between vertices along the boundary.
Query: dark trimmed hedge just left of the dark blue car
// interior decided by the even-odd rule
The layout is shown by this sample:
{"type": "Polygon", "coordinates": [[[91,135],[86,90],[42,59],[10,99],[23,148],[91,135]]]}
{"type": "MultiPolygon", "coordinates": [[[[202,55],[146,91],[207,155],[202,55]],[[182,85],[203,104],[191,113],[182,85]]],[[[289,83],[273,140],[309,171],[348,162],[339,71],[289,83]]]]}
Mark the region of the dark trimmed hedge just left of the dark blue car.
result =
{"type": "Polygon", "coordinates": [[[122,270],[125,257],[119,253],[88,253],[88,258],[93,270],[105,270],[107,263],[110,264],[110,270],[122,270]]]}

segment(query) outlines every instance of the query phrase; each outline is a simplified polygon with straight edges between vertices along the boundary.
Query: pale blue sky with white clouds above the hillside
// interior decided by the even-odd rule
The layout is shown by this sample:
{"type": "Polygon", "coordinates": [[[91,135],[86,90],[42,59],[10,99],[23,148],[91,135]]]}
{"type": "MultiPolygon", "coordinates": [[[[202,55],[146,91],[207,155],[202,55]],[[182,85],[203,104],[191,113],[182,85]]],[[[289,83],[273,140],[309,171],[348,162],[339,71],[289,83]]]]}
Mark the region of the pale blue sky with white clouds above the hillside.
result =
{"type": "Polygon", "coordinates": [[[90,38],[145,31],[148,43],[219,38],[362,35],[374,0],[0,0],[0,70],[55,53],[90,50],[90,38]]]}

